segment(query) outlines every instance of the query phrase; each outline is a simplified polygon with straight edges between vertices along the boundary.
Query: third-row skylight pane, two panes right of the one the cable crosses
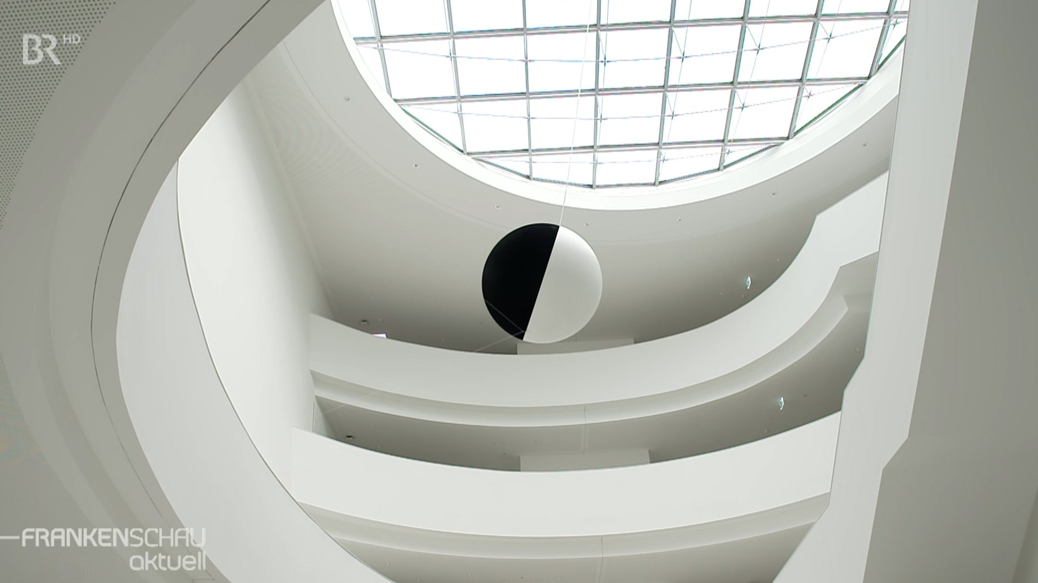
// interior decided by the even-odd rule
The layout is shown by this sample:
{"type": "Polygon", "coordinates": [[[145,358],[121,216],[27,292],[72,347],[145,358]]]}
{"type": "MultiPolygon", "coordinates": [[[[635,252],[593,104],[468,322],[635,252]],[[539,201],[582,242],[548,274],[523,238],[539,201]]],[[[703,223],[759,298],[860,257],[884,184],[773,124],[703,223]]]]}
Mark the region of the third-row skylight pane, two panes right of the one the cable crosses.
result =
{"type": "Polygon", "coordinates": [[[731,89],[667,93],[663,142],[723,139],[731,94],[731,89]]]}

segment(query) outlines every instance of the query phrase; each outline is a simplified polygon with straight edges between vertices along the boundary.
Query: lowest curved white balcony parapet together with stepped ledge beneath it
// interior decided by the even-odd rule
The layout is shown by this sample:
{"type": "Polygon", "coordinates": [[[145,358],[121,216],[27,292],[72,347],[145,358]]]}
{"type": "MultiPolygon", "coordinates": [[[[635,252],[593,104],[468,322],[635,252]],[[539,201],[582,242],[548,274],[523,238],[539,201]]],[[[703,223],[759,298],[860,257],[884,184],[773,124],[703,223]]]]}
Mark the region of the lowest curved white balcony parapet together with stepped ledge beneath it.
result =
{"type": "Polygon", "coordinates": [[[362,558],[536,563],[767,545],[791,532],[798,540],[824,509],[839,423],[837,413],[650,466],[519,473],[404,460],[296,429],[292,492],[362,558]]]}

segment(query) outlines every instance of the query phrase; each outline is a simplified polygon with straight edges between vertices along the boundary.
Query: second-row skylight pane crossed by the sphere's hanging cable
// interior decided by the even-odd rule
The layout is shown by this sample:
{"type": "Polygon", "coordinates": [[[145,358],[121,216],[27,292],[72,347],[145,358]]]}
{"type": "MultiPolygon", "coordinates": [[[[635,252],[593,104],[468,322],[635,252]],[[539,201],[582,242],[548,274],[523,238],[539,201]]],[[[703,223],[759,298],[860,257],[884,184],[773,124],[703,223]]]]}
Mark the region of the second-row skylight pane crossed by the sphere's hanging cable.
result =
{"type": "Polygon", "coordinates": [[[530,34],[529,90],[595,88],[595,33],[530,34]]]}

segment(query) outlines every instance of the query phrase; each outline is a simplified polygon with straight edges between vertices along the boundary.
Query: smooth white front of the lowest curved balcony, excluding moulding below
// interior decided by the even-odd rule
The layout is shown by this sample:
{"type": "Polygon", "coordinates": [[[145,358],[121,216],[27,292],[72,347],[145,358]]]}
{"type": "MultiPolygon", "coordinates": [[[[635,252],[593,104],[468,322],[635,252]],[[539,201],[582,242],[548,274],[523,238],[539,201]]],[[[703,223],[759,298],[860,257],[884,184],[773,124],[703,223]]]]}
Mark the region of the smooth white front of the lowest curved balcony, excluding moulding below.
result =
{"type": "Polygon", "coordinates": [[[837,413],[684,460],[563,472],[430,464],[296,431],[292,493],[325,511],[440,533],[575,537],[663,531],[824,496],[839,426],[837,413]]]}

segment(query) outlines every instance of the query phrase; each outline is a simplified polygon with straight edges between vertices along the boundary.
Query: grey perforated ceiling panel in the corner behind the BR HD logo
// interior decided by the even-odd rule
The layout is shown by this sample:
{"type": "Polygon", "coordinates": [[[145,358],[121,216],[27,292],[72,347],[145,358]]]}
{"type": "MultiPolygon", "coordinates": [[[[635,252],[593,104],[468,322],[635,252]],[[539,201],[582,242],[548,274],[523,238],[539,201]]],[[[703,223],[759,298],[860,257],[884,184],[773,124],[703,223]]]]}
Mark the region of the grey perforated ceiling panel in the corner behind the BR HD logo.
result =
{"type": "Polygon", "coordinates": [[[0,2],[0,227],[36,122],[113,5],[114,0],[0,2]]]}

